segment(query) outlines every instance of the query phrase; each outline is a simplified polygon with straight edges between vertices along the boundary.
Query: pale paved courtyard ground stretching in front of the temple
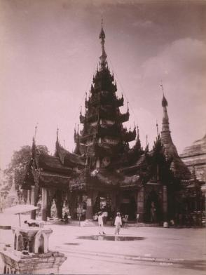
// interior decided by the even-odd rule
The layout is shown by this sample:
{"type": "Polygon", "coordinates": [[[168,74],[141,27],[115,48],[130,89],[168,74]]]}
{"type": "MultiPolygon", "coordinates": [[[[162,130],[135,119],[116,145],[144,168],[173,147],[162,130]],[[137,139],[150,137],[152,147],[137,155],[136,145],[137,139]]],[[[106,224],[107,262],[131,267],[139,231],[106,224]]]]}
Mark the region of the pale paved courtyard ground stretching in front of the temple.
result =
{"type": "MultiPolygon", "coordinates": [[[[14,225],[14,219],[11,222],[14,225]]],[[[97,227],[69,224],[48,224],[46,227],[53,229],[50,250],[67,256],[60,274],[205,275],[204,228],[128,227],[121,229],[121,241],[115,238],[114,227],[105,227],[107,235],[100,236],[97,227]]],[[[12,239],[11,230],[0,229],[1,247],[12,239]]]]}

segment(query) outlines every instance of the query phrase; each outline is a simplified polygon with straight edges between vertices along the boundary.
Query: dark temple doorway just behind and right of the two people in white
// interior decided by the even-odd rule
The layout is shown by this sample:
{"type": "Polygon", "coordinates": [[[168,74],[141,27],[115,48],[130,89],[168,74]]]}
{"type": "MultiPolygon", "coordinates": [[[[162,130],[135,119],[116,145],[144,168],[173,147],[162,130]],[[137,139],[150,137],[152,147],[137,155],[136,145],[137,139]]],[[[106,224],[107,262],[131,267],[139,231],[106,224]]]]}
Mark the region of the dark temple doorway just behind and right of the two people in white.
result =
{"type": "Polygon", "coordinates": [[[135,220],[137,213],[137,203],[133,192],[124,192],[121,200],[121,215],[128,215],[129,220],[135,220]]]}

